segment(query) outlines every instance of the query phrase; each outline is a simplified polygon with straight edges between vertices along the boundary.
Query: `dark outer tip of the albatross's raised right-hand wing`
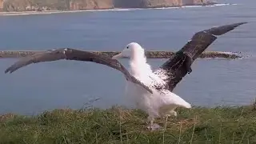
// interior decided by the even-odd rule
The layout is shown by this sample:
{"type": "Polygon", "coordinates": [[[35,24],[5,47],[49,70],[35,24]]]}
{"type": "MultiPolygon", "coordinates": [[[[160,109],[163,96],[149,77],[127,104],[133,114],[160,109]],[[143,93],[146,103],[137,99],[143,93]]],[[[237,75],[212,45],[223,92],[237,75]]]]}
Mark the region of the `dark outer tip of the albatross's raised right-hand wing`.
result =
{"type": "Polygon", "coordinates": [[[209,30],[204,30],[204,32],[206,32],[208,34],[213,34],[213,35],[222,35],[222,34],[229,32],[230,30],[234,30],[234,28],[241,26],[243,24],[246,24],[246,23],[248,23],[248,22],[238,22],[238,23],[233,23],[233,24],[225,25],[225,26],[217,26],[217,27],[213,27],[209,30]]]}

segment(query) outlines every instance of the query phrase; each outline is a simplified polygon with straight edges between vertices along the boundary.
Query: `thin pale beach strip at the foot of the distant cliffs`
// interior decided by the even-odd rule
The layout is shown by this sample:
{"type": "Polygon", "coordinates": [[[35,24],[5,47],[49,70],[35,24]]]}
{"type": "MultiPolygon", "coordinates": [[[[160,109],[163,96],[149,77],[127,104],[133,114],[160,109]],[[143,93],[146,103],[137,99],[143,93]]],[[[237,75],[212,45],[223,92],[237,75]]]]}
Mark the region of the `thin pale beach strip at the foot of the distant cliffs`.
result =
{"type": "Polygon", "coordinates": [[[148,8],[112,8],[112,9],[95,9],[95,10],[43,10],[43,11],[1,11],[0,16],[18,16],[18,15],[31,15],[31,14],[62,14],[62,13],[78,13],[78,12],[91,12],[91,11],[124,11],[124,10],[162,10],[162,9],[179,9],[179,8],[192,8],[192,7],[212,7],[212,6],[230,6],[237,4],[218,3],[208,6],[191,5],[191,6],[166,6],[166,7],[148,7],[148,8]]]}

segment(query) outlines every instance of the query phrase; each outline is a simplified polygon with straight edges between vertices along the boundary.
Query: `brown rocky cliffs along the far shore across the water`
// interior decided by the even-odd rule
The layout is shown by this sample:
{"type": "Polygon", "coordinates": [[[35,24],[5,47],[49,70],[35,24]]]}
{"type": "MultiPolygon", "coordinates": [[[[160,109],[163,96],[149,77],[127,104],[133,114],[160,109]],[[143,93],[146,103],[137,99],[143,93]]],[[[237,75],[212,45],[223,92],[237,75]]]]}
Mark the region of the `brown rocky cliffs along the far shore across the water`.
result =
{"type": "Polygon", "coordinates": [[[210,6],[211,0],[0,0],[2,12],[210,6]]]}

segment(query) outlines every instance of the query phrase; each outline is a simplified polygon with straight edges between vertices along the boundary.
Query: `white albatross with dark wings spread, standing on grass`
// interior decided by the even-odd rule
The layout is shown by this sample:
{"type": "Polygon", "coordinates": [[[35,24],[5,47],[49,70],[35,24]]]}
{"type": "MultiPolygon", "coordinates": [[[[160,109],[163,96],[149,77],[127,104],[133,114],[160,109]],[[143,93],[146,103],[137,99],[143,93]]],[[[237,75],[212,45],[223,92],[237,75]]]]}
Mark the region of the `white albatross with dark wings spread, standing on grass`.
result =
{"type": "Polygon", "coordinates": [[[150,123],[148,128],[156,130],[160,126],[154,124],[155,118],[166,117],[167,119],[170,115],[177,116],[177,112],[174,110],[179,106],[191,108],[189,102],[186,102],[172,91],[186,74],[192,72],[191,65],[194,60],[217,39],[218,35],[226,34],[230,30],[234,30],[235,27],[245,23],[247,22],[217,26],[197,32],[181,50],[178,50],[156,70],[151,70],[150,65],[146,62],[142,46],[136,42],[131,42],[120,54],[114,55],[112,58],[69,48],[47,50],[21,58],[18,62],[7,68],[5,73],[13,73],[15,70],[31,63],[50,62],[61,59],[96,62],[110,66],[125,75],[128,81],[126,86],[127,94],[134,98],[134,102],[139,109],[144,110],[148,114],[148,121],[150,123]],[[130,58],[130,72],[118,62],[117,59],[122,57],[130,58]]]}

